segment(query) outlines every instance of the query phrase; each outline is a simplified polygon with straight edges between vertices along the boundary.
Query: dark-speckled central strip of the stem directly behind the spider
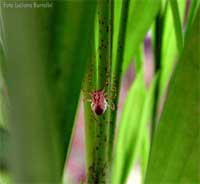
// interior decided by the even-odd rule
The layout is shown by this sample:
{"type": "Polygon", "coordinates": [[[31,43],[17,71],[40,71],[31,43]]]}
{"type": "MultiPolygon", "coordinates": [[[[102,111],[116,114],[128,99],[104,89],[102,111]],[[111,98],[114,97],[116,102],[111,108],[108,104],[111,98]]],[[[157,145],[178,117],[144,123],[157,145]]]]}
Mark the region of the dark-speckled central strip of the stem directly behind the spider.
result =
{"type": "MultiPolygon", "coordinates": [[[[110,36],[110,0],[98,1],[99,19],[99,40],[98,40],[98,90],[105,90],[109,94],[111,74],[111,36],[110,36]]],[[[109,183],[108,164],[108,113],[106,111],[96,119],[96,146],[95,146],[95,167],[93,183],[109,183]]]]}

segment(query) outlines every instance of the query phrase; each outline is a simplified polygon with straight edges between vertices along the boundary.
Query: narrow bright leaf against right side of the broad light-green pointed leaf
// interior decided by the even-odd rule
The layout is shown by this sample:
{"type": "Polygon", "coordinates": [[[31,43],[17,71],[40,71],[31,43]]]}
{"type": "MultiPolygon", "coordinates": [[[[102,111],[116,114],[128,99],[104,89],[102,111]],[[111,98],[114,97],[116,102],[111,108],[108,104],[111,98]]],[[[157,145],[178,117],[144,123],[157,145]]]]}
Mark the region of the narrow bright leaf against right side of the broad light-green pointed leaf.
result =
{"type": "MultiPolygon", "coordinates": [[[[140,81],[141,83],[143,81],[140,81]]],[[[124,169],[122,170],[122,178],[121,178],[121,183],[125,183],[128,174],[130,173],[133,165],[135,164],[136,160],[138,159],[138,156],[140,154],[140,150],[143,145],[144,138],[146,137],[147,134],[147,123],[151,121],[152,118],[152,112],[153,112],[153,100],[154,100],[154,92],[155,92],[155,87],[156,87],[156,82],[157,82],[157,76],[154,78],[152,81],[152,84],[149,88],[148,91],[146,91],[145,96],[143,97],[144,104],[142,105],[142,110],[141,114],[138,113],[138,111],[132,111],[130,114],[130,120],[132,120],[132,126],[133,129],[129,132],[127,132],[127,135],[131,137],[130,141],[128,141],[128,138],[124,139],[127,140],[127,149],[126,149],[126,156],[124,157],[124,169]],[[135,112],[135,113],[133,113],[135,112]],[[132,119],[131,119],[132,117],[132,119]],[[136,119],[136,118],[137,119],[136,119]]],[[[142,92],[141,92],[142,93],[142,92]]],[[[137,104],[137,102],[132,102],[135,103],[135,105],[140,105],[137,104]]],[[[131,107],[130,107],[131,109],[131,107]]],[[[130,123],[129,122],[129,123],[130,123]]],[[[127,123],[126,123],[127,124],[127,123]]],[[[128,127],[131,128],[130,124],[127,125],[128,127]]],[[[147,150],[148,151],[148,150],[147,150]]],[[[147,162],[147,160],[143,160],[144,166],[147,162]]],[[[146,167],[146,166],[145,166],[146,167]]],[[[144,169],[145,169],[144,167],[144,169]]]]}

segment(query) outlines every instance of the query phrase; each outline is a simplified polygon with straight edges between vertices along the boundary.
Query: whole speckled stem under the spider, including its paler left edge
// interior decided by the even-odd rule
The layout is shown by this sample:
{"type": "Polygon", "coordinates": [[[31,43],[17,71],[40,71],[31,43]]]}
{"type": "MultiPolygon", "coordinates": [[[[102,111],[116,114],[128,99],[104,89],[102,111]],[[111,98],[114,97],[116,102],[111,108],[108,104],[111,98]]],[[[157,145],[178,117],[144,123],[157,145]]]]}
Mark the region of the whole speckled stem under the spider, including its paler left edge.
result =
{"type": "MultiPolygon", "coordinates": [[[[111,43],[112,25],[112,0],[98,1],[98,58],[90,62],[84,88],[86,91],[105,90],[109,95],[111,83],[111,43]],[[96,77],[96,79],[95,79],[96,77]],[[89,84],[92,80],[93,84],[89,84]]],[[[107,99],[106,99],[107,100],[107,99]]],[[[107,100],[109,101],[109,100],[107,100]]],[[[108,102],[109,103],[109,102],[108,102]]],[[[109,107],[108,107],[109,108],[109,107]]],[[[85,102],[85,131],[86,131],[86,165],[87,183],[109,183],[110,172],[108,163],[108,115],[110,111],[97,116],[91,111],[90,103],[85,102]]]]}

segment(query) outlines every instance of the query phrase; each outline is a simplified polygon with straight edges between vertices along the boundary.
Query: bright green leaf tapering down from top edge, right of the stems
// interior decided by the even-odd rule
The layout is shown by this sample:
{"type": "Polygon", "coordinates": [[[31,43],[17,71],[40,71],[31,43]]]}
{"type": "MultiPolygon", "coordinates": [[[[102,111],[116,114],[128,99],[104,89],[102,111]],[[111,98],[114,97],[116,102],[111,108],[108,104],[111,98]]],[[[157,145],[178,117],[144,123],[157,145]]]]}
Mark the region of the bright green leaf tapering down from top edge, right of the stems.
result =
{"type": "Polygon", "coordinates": [[[161,5],[161,0],[131,0],[126,32],[123,72],[143,42],[161,5]]]}

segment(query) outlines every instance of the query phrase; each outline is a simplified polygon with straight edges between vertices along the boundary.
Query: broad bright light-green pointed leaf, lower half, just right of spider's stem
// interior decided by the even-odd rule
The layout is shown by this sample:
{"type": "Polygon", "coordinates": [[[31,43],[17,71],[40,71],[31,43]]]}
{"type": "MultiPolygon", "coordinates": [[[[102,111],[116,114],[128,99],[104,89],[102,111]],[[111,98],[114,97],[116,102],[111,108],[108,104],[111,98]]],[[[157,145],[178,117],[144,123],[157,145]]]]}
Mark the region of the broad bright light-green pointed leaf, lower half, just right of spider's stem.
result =
{"type": "Polygon", "coordinates": [[[130,165],[127,164],[127,159],[133,160],[136,156],[136,152],[133,152],[132,141],[136,136],[136,130],[139,126],[139,121],[142,113],[142,107],[144,104],[145,98],[145,86],[142,73],[140,73],[133,85],[131,86],[130,91],[128,92],[125,106],[122,112],[122,117],[120,120],[120,127],[117,136],[117,145],[114,154],[114,163],[113,163],[113,173],[112,173],[112,183],[118,184],[123,183],[124,176],[127,177],[128,171],[125,168],[128,167],[130,170],[130,165]],[[134,153],[134,154],[132,154],[134,153]],[[132,156],[131,156],[132,155],[132,156]]]}

